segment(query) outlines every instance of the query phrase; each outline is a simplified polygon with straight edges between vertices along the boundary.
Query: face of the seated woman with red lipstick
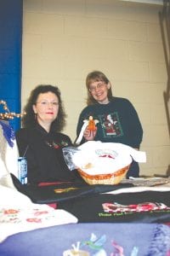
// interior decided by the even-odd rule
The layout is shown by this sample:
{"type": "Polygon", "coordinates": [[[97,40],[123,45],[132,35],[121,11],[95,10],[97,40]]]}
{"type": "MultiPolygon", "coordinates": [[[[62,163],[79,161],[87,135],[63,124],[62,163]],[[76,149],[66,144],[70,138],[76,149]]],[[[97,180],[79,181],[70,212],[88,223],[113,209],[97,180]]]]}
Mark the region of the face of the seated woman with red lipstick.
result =
{"type": "MultiPolygon", "coordinates": [[[[37,114],[37,122],[51,124],[59,112],[59,98],[53,92],[40,93],[37,102],[33,105],[33,111],[37,114]]],[[[43,126],[43,125],[42,125],[43,126]]]]}

